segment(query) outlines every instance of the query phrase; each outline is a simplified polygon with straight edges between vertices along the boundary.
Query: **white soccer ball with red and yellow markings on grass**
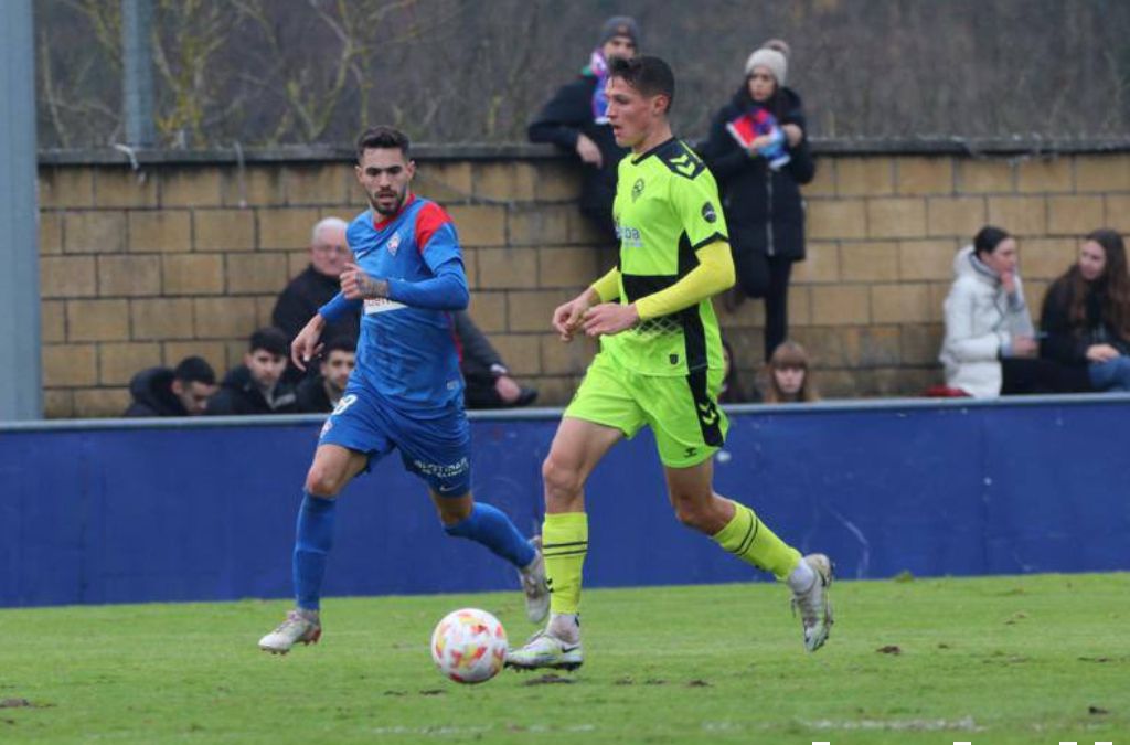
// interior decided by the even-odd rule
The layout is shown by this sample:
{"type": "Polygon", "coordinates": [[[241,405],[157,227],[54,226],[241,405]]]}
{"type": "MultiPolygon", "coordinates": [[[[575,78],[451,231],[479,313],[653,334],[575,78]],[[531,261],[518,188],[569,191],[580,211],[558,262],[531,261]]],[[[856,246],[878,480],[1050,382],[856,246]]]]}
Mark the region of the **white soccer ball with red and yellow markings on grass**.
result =
{"type": "Polygon", "coordinates": [[[457,683],[489,681],[506,661],[506,632],[486,610],[453,610],[432,632],[432,659],[457,683]]]}

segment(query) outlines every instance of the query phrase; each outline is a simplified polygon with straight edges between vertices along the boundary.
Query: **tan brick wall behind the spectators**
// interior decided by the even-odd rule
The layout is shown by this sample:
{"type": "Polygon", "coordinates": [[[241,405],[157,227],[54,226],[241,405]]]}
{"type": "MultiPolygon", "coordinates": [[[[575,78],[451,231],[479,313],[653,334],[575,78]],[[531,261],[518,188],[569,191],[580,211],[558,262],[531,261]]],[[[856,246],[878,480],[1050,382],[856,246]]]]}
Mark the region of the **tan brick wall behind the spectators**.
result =
{"type": "MultiPolygon", "coordinates": [[[[602,272],[573,206],[579,174],[545,159],[421,162],[416,191],[462,237],[471,311],[511,369],[563,404],[594,346],[562,345],[549,315],[602,272]]],[[[1019,237],[1038,312],[1080,235],[1130,233],[1130,154],[972,158],[822,156],[806,190],[808,260],[796,266],[791,336],[828,397],[915,395],[940,382],[941,303],[955,251],[986,223],[1019,237]]],[[[49,417],[114,416],[138,370],[199,354],[219,373],[269,323],[307,263],[310,229],[364,208],[345,163],[40,170],[43,370],[49,417]]],[[[719,306],[742,379],[759,374],[764,314],[719,306]]]]}

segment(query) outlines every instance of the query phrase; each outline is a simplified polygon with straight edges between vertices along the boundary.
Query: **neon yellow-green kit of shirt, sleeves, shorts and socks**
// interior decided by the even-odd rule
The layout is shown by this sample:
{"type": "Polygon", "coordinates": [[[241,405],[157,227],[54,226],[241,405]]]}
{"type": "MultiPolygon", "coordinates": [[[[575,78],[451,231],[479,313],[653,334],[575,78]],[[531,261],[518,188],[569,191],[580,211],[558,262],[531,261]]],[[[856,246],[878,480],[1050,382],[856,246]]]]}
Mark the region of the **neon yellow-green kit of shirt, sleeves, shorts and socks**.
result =
{"type": "MultiPolygon", "coordinates": [[[[711,296],[732,285],[733,265],[718,187],[698,156],[673,138],[624,158],[618,184],[619,265],[593,289],[605,302],[635,303],[641,321],[601,337],[600,353],[565,416],[628,438],[651,426],[663,465],[692,467],[722,447],[728,427],[718,407],[722,339],[711,296]]],[[[713,539],[786,579],[800,553],[748,506],[732,504],[732,520],[713,539]]],[[[546,516],[542,542],[555,614],[577,613],[588,540],[585,513],[546,516]]]]}

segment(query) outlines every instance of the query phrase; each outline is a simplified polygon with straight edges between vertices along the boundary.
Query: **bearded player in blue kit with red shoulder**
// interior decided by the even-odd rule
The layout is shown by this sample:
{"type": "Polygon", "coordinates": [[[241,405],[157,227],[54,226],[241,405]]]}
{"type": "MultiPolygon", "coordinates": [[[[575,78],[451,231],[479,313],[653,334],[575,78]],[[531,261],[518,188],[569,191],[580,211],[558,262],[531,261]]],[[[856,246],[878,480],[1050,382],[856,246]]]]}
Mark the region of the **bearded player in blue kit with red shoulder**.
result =
{"type": "Polygon", "coordinates": [[[540,539],[527,540],[502,511],[471,496],[470,428],[449,315],[467,307],[470,297],[455,227],[438,205],[409,190],[416,164],[402,132],[375,127],[362,133],[356,172],[371,206],[346,233],[356,263],[346,267],[341,292],[319,309],[290,348],[305,370],[321,348],[328,321],[363,313],[357,366],[322,427],[298,510],[297,607],[259,641],[272,653],[321,636],[319,607],[336,497],[393,449],[427,484],[444,531],[483,544],[519,570],[531,622],[549,612],[540,539]]]}

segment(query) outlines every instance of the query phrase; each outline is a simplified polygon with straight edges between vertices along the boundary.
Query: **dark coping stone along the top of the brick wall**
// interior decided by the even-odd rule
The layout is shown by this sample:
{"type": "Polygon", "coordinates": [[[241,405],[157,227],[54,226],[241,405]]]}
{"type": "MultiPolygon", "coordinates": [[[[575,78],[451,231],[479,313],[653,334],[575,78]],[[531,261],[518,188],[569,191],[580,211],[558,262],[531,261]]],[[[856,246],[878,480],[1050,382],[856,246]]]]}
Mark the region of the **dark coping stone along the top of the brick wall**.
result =
{"type": "MultiPolygon", "coordinates": [[[[927,156],[1055,156],[1130,153],[1130,138],[812,138],[816,155],[927,155],[927,156]]],[[[571,158],[549,145],[515,144],[420,144],[412,148],[417,161],[557,161],[571,158]]],[[[131,149],[122,145],[106,148],[42,149],[40,166],[132,165],[238,165],[266,163],[348,163],[351,147],[302,145],[270,148],[215,148],[208,150],[131,149]]]]}

